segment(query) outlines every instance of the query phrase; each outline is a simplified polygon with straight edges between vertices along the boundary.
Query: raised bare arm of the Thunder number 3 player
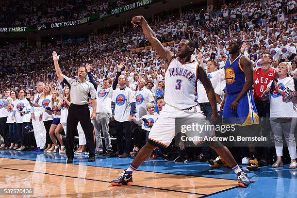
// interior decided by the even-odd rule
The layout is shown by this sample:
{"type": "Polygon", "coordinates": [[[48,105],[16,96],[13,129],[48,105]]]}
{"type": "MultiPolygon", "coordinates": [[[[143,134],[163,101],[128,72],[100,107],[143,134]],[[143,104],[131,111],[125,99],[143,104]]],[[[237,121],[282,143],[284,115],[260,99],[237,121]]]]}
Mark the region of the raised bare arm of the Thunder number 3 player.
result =
{"type": "Polygon", "coordinates": [[[172,56],[174,56],[174,54],[161,44],[156,34],[149,27],[148,22],[143,16],[134,16],[131,22],[134,25],[134,27],[138,27],[137,25],[138,23],[141,25],[143,33],[147,37],[151,46],[153,47],[154,50],[156,50],[158,55],[165,61],[165,70],[167,70],[169,61],[172,59],[172,56]]]}

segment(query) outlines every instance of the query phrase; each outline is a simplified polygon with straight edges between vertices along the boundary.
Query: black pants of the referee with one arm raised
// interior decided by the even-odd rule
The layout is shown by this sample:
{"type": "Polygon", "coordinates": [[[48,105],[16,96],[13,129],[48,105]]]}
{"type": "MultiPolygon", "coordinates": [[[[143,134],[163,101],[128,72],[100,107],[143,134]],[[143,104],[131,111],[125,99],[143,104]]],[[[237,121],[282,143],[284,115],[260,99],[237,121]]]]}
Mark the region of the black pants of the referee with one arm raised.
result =
{"type": "Polygon", "coordinates": [[[67,132],[66,132],[66,155],[67,158],[74,158],[74,134],[77,129],[78,122],[82,125],[85,135],[86,144],[89,148],[89,157],[95,157],[95,144],[93,138],[93,129],[88,105],[77,105],[71,103],[67,116],[67,132]]]}

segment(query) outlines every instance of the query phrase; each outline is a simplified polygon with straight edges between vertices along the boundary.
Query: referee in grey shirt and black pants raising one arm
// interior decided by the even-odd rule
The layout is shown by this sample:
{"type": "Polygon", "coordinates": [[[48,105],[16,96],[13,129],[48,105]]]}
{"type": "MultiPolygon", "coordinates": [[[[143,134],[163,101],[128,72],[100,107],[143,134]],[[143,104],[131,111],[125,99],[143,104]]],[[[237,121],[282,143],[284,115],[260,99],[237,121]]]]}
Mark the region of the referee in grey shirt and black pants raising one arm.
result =
{"type": "Polygon", "coordinates": [[[55,51],[52,52],[52,59],[54,61],[55,70],[58,78],[67,84],[70,88],[71,104],[68,109],[67,116],[67,132],[66,132],[66,155],[67,163],[73,163],[74,153],[74,132],[77,128],[78,122],[82,125],[82,130],[85,134],[87,146],[89,148],[89,162],[95,161],[95,144],[93,138],[93,130],[91,120],[96,117],[96,95],[95,88],[91,82],[87,82],[85,77],[87,71],[85,67],[80,67],[78,70],[79,80],[68,78],[62,74],[59,67],[59,56],[55,51]],[[88,108],[89,98],[92,99],[93,113],[90,116],[88,108]]]}

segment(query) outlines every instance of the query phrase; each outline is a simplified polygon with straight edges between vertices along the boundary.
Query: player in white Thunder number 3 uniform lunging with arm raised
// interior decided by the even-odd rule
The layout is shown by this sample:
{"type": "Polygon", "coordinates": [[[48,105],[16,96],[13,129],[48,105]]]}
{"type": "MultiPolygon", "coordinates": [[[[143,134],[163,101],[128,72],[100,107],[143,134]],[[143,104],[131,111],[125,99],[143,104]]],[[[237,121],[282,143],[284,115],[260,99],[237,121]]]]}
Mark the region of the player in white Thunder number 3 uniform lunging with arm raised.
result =
{"type": "MultiPolygon", "coordinates": [[[[205,88],[207,97],[213,109],[212,120],[215,122],[217,113],[214,88],[207,78],[206,72],[200,66],[192,54],[195,44],[192,40],[182,39],[179,43],[177,56],[163,47],[151,30],[143,16],[134,16],[132,24],[137,27],[140,24],[153,49],[165,61],[165,97],[166,105],[163,107],[159,118],[152,126],[148,136],[148,142],[140,149],[132,164],[120,176],[111,181],[114,186],[132,183],[132,172],[135,171],[158,146],[168,147],[175,136],[175,118],[178,117],[204,117],[197,102],[197,80],[200,80],[205,88]]],[[[236,164],[228,148],[220,142],[208,142],[211,148],[232,167],[238,178],[238,185],[247,187],[249,180],[247,174],[236,164]]]]}

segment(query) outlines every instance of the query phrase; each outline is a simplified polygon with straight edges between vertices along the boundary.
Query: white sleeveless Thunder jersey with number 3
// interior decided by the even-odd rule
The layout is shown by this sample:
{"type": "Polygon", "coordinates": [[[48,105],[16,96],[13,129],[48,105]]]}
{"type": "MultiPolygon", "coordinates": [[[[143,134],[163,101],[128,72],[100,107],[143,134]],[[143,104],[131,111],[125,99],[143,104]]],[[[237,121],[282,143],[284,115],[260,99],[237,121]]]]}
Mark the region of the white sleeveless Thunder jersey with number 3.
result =
{"type": "Polygon", "coordinates": [[[197,69],[198,62],[181,63],[178,57],[173,58],[165,73],[166,104],[177,109],[187,109],[198,105],[197,69]]]}

